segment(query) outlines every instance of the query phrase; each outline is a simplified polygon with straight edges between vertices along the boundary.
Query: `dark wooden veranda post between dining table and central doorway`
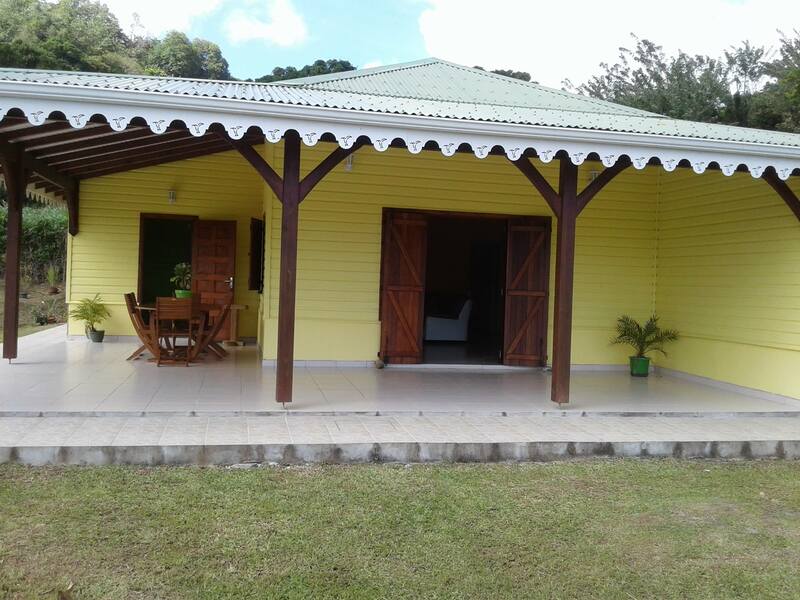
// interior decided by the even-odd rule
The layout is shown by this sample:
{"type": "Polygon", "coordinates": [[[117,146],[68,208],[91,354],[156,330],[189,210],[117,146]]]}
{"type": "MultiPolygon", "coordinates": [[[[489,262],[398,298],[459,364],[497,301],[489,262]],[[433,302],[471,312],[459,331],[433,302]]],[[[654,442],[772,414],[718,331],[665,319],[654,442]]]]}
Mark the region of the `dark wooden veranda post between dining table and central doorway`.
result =
{"type": "Polygon", "coordinates": [[[283,147],[281,273],[278,296],[278,360],[275,400],[292,401],[294,315],[297,292],[297,230],[300,216],[300,136],[287,131],[283,147]]]}

